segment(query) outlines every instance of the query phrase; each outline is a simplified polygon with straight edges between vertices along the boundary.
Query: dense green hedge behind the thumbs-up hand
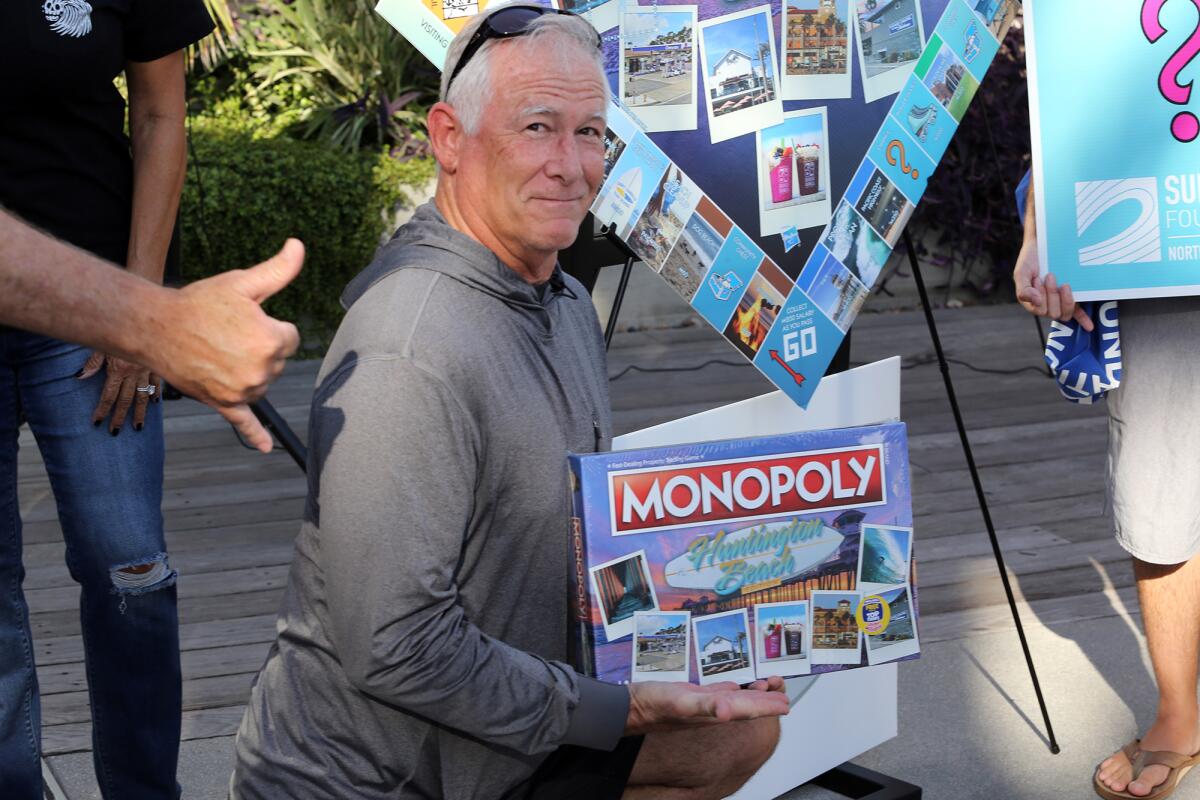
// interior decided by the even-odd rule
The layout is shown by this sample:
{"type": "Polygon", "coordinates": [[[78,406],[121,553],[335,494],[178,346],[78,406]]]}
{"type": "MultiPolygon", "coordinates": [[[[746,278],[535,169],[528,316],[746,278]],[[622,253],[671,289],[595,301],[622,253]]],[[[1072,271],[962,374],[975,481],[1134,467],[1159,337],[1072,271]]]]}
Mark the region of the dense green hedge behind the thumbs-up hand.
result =
{"type": "Polygon", "coordinates": [[[254,138],[233,119],[199,119],[181,204],[184,277],[194,281],[271,255],[286,236],[308,247],[300,277],[268,303],[300,324],[310,350],[341,320],[338,295],[366,266],[406,188],[428,160],[346,154],[319,142],[254,138]]]}

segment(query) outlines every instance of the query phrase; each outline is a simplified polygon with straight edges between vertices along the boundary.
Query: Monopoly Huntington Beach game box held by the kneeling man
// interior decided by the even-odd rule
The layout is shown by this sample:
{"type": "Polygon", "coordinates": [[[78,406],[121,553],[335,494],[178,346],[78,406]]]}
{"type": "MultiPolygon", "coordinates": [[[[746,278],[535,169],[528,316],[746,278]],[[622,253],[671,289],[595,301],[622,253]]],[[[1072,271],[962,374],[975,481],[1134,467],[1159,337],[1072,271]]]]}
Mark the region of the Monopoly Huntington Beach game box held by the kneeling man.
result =
{"type": "Polygon", "coordinates": [[[904,423],[569,462],[582,672],[745,684],[918,656],[904,423]]]}

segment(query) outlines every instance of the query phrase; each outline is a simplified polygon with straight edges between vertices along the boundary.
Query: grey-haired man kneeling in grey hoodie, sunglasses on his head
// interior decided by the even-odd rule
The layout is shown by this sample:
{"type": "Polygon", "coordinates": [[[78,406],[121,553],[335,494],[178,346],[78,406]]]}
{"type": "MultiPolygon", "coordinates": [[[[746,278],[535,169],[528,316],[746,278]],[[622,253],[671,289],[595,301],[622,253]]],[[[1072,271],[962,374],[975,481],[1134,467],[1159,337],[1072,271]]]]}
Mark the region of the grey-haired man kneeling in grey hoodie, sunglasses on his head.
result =
{"type": "Polygon", "coordinates": [[[778,678],[564,663],[565,459],[611,420],[595,311],[556,255],[601,182],[607,101],[578,17],[508,6],[451,44],[436,199],[348,287],[318,377],[235,800],[721,798],[773,752],[778,678]]]}

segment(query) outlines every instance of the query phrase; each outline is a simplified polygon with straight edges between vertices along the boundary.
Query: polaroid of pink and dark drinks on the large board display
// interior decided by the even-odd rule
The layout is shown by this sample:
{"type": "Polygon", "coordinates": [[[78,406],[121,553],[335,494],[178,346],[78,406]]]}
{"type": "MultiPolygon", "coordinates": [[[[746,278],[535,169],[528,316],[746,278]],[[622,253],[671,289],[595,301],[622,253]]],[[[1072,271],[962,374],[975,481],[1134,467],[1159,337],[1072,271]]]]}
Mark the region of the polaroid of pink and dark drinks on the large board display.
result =
{"type": "Polygon", "coordinates": [[[784,114],[755,132],[758,154],[758,225],[763,236],[829,222],[829,122],[826,108],[784,114]]]}

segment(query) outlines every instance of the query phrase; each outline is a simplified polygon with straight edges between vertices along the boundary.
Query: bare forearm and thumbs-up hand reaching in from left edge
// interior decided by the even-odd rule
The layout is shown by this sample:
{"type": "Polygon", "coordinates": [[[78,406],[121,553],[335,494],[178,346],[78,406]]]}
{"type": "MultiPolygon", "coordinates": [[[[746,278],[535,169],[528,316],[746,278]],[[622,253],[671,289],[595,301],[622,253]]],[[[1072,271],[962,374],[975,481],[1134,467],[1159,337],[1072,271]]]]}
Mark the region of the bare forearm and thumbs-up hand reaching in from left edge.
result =
{"type": "Polygon", "coordinates": [[[280,375],[300,337],[259,305],[301,264],[304,245],[290,240],[248,270],[166,289],[0,210],[0,321],[145,363],[265,452],[271,437],[245,403],[280,375]]]}

